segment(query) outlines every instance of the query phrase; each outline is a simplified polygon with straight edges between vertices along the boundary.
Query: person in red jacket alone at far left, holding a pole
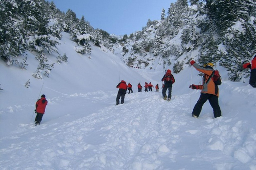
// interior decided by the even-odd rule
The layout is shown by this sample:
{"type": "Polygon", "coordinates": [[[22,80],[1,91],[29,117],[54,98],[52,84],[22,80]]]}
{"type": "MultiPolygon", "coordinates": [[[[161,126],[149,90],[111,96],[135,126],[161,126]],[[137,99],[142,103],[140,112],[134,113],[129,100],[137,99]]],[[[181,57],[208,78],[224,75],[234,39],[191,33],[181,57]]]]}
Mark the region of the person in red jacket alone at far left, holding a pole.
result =
{"type": "Polygon", "coordinates": [[[35,119],[36,125],[39,125],[40,122],[42,121],[42,116],[45,113],[45,108],[46,108],[47,104],[48,104],[48,101],[46,100],[45,95],[43,94],[41,96],[41,99],[38,99],[36,102],[36,110],[35,110],[37,113],[37,116],[35,119]]]}

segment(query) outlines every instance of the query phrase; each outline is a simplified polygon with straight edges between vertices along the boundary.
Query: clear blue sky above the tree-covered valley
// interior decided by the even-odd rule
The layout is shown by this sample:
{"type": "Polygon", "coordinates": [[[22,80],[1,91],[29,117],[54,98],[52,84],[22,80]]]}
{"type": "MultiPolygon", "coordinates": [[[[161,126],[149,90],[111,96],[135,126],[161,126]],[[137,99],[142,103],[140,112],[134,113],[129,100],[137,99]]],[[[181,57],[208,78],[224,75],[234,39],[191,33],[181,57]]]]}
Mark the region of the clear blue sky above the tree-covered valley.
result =
{"type": "MultiPolygon", "coordinates": [[[[51,0],[48,0],[51,2],[51,0]]],[[[177,0],[52,0],[58,9],[72,9],[77,18],[84,15],[93,28],[110,34],[129,35],[146,26],[148,19],[161,18],[177,0]]],[[[166,15],[167,16],[167,15],[166,15]]]]}

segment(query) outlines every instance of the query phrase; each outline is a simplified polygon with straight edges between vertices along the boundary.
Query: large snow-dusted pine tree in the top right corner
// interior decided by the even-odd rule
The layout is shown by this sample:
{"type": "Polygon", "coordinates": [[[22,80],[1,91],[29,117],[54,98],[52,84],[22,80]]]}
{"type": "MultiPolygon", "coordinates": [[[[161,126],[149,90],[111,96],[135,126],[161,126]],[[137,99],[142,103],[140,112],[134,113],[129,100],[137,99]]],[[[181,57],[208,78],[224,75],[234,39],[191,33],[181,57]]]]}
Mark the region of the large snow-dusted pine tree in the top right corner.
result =
{"type": "Polygon", "coordinates": [[[252,0],[233,2],[232,24],[223,31],[225,36],[221,37],[226,53],[223,53],[220,64],[227,68],[232,81],[247,76],[242,64],[251,60],[256,52],[256,19],[251,16],[255,6],[256,2],[252,0]]]}

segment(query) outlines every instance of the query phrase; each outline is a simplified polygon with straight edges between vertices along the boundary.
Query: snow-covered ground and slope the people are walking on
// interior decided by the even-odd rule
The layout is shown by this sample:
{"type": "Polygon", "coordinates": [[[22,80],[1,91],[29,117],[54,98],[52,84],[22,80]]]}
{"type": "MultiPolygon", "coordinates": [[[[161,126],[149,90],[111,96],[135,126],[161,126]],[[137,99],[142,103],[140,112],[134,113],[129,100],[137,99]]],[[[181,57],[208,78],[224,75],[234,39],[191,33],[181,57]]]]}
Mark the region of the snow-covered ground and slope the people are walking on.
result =
{"type": "Polygon", "coordinates": [[[168,102],[136,88],[161,87],[163,70],[128,68],[104,48],[79,55],[65,33],[61,43],[68,63],[55,64],[50,78],[32,78],[32,53],[27,70],[0,61],[0,170],[256,170],[256,89],[248,83],[229,82],[221,70],[223,116],[214,119],[206,102],[195,119],[200,91],[188,88],[201,80],[195,69],[174,74],[168,102]],[[122,79],[134,93],[115,106],[122,79]],[[48,105],[34,126],[41,94],[48,105]]]}

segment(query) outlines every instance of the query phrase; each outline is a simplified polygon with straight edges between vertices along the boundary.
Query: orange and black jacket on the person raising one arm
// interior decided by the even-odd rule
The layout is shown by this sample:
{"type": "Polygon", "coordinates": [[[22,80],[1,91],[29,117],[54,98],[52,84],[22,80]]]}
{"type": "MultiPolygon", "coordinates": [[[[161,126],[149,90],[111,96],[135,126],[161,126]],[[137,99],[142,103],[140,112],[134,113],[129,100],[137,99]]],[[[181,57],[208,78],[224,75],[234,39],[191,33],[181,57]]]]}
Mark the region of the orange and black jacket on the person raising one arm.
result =
{"type": "Polygon", "coordinates": [[[214,69],[201,67],[197,63],[193,64],[197,71],[204,73],[203,85],[199,85],[201,93],[213,94],[219,97],[219,87],[214,83],[211,76],[213,75],[214,69]]]}

